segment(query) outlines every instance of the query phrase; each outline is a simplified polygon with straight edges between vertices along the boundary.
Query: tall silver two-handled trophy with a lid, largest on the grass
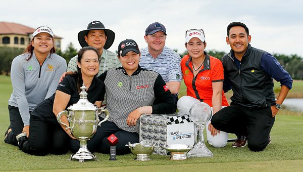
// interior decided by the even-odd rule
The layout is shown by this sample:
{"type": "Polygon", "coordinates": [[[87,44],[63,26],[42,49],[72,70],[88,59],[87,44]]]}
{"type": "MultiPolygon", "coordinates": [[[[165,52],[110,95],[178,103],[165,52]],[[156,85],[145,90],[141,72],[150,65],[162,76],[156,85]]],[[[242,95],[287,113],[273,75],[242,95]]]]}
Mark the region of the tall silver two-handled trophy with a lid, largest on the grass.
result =
{"type": "Polygon", "coordinates": [[[64,110],[58,113],[57,120],[60,124],[66,126],[66,130],[70,129],[70,133],[80,141],[80,149],[78,152],[71,156],[71,159],[78,159],[79,162],[83,162],[85,159],[97,160],[96,156],[88,151],[87,140],[92,138],[97,130],[97,125],[108,120],[110,113],[106,109],[100,109],[87,100],[86,87],[83,83],[80,87],[82,92],[80,93],[80,100],[64,110]],[[98,115],[100,113],[106,113],[106,118],[99,122],[98,115]],[[67,117],[69,125],[61,121],[61,116],[67,117]]]}

